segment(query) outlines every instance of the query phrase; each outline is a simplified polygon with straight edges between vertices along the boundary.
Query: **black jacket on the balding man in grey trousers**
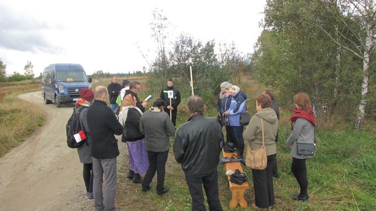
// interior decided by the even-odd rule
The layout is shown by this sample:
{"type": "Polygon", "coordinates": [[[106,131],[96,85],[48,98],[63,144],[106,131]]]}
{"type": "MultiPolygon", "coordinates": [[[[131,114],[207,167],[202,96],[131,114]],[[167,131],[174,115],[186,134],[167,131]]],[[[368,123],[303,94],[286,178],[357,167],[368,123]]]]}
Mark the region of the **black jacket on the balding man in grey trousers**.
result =
{"type": "Polygon", "coordinates": [[[109,159],[119,155],[115,135],[123,132],[123,126],[117,121],[115,113],[101,100],[87,109],[87,124],[91,137],[91,154],[97,159],[109,159]],[[115,134],[115,135],[114,135],[115,134]]]}

